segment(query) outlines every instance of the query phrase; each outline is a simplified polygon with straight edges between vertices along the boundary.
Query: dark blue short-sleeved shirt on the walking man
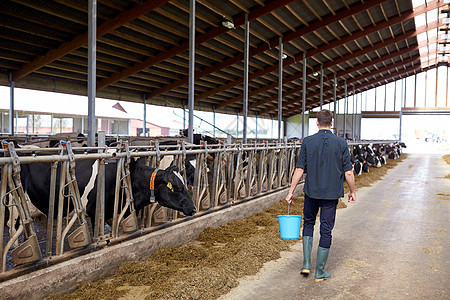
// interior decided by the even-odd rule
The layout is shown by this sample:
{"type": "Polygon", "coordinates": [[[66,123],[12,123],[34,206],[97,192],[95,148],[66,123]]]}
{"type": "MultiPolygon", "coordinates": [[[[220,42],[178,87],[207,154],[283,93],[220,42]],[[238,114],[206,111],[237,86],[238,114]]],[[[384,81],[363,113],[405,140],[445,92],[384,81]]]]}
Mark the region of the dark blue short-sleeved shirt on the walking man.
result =
{"type": "Polygon", "coordinates": [[[347,142],[322,129],[303,139],[296,164],[306,172],[303,191],[310,198],[336,200],[344,196],[344,173],[352,169],[347,142]]]}

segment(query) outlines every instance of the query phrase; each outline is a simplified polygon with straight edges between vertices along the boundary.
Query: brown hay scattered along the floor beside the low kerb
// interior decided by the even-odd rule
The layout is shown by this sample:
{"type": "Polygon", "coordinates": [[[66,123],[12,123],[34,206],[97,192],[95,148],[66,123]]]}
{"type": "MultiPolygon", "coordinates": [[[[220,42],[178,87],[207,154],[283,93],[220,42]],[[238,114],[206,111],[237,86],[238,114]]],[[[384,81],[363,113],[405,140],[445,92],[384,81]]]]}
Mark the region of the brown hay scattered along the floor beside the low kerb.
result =
{"type": "MultiPolygon", "coordinates": [[[[370,186],[401,162],[389,160],[381,168],[356,177],[357,188],[370,186]]],[[[345,184],[348,193],[348,187],[345,184]]],[[[347,197],[339,200],[345,208],[347,197]]],[[[265,262],[290,251],[296,240],[282,240],[277,215],[284,215],[284,199],[245,220],[230,221],[218,228],[206,228],[198,240],[179,248],[162,248],[145,261],[123,263],[106,280],[85,282],[73,294],[48,299],[217,299],[254,275],[265,262]]],[[[294,198],[291,214],[303,214],[303,196],[294,198]]],[[[366,266],[364,262],[349,262],[366,266]]]]}

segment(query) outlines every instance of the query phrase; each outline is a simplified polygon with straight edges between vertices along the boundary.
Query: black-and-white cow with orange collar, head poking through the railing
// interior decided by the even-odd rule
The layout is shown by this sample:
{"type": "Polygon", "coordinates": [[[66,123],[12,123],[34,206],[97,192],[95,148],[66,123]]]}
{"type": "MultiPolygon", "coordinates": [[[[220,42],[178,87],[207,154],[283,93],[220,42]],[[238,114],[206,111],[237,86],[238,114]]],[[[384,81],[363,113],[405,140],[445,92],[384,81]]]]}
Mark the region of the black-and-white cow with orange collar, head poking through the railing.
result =
{"type": "MultiPolygon", "coordinates": [[[[86,213],[95,220],[97,180],[90,191],[86,190],[92,182],[92,166],[95,160],[79,160],[76,162],[75,174],[80,195],[87,193],[86,213]]],[[[114,194],[116,184],[117,163],[105,164],[105,220],[113,217],[114,194]]],[[[144,206],[150,204],[150,178],[155,168],[146,166],[140,161],[131,159],[130,175],[134,198],[134,207],[139,212],[144,206]]],[[[57,171],[57,187],[59,186],[60,167],[57,171]]],[[[21,177],[24,190],[28,193],[31,202],[44,214],[48,215],[48,199],[50,196],[50,163],[35,163],[21,165],[21,177]]],[[[165,170],[158,170],[154,183],[155,200],[168,208],[181,211],[187,216],[196,212],[194,202],[189,195],[178,168],[171,166],[165,170]]],[[[57,192],[56,192],[57,193],[57,192]]],[[[55,197],[58,201],[58,197],[55,197]]],[[[57,204],[56,204],[57,205],[57,204]]],[[[55,206],[57,207],[57,206],[55,206]]],[[[65,210],[66,211],[66,210],[65,210]]],[[[56,217],[56,209],[55,216],[56,217]]]]}

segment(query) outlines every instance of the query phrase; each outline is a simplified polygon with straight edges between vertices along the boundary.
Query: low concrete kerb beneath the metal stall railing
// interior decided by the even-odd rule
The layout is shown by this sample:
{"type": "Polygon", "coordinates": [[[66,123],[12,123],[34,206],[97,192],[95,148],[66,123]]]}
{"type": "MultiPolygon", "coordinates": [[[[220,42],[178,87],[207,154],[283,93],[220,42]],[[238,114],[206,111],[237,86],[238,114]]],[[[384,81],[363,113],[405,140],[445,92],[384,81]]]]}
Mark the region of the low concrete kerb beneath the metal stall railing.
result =
{"type": "MultiPolygon", "coordinates": [[[[295,195],[300,194],[302,188],[303,185],[298,185],[295,195]]],[[[112,274],[123,262],[148,258],[162,247],[182,246],[196,240],[207,227],[219,227],[264,211],[284,199],[286,193],[287,189],[282,189],[5,281],[0,283],[0,298],[43,299],[54,293],[71,292],[83,281],[95,281],[112,274]]]]}

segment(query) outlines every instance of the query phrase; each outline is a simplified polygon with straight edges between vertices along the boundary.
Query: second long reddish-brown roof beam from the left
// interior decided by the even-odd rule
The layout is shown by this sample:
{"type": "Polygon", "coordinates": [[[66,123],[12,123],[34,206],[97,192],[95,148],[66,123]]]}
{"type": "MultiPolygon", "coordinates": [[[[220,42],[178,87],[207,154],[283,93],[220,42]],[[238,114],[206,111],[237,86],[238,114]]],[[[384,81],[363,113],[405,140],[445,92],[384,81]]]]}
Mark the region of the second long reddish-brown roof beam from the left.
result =
{"type": "MultiPolygon", "coordinates": [[[[294,0],[272,0],[268,3],[266,3],[265,6],[258,6],[257,8],[253,9],[250,14],[248,15],[248,20],[254,20],[256,18],[259,18],[265,14],[268,14],[274,10],[279,9],[280,7],[284,7],[285,5],[293,2],[294,0]]],[[[244,24],[245,21],[245,14],[241,13],[239,14],[234,20],[234,26],[235,27],[239,27],[242,26],[244,24]]],[[[200,45],[202,43],[205,43],[227,31],[229,31],[230,29],[224,27],[224,26],[218,26],[218,27],[214,27],[211,30],[207,31],[205,34],[201,34],[201,35],[197,35],[195,37],[195,44],[196,45],[200,45]]],[[[147,69],[151,66],[156,65],[157,63],[160,63],[172,56],[175,56],[181,52],[187,51],[189,49],[189,40],[184,41],[183,43],[181,43],[179,46],[174,46],[170,49],[168,49],[167,51],[162,51],[161,53],[159,53],[158,55],[156,55],[155,57],[149,57],[146,60],[144,60],[141,63],[136,63],[135,65],[133,65],[130,68],[126,68],[124,70],[122,70],[121,72],[116,72],[114,74],[111,75],[110,78],[107,78],[105,80],[101,80],[99,83],[97,83],[97,89],[102,89],[110,84],[113,84],[119,80],[121,80],[122,78],[131,76],[135,73],[138,73],[144,69],[147,69]]],[[[197,77],[197,76],[196,76],[197,77]]],[[[178,85],[171,85],[169,89],[164,89],[164,92],[171,90],[173,88],[176,88],[182,84],[185,84],[188,82],[188,76],[185,76],[182,80],[183,82],[178,84],[178,85]],[[185,80],[184,80],[185,79],[185,80]]],[[[161,94],[157,93],[151,93],[149,95],[147,95],[147,98],[151,98],[154,97],[156,95],[161,94]]]]}

